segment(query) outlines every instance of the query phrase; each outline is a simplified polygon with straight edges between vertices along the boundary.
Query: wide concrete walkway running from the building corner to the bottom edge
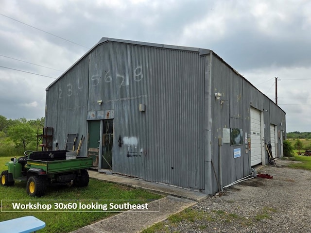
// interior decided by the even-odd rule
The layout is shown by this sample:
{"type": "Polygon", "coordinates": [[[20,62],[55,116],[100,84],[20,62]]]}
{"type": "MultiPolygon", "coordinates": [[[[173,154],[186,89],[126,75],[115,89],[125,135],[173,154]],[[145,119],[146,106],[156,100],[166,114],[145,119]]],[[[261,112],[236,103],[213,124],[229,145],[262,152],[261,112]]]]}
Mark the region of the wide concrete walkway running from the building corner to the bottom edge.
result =
{"type": "Polygon", "coordinates": [[[150,202],[148,204],[148,212],[122,212],[72,233],[138,233],[196,203],[193,200],[167,196],[150,202]]]}

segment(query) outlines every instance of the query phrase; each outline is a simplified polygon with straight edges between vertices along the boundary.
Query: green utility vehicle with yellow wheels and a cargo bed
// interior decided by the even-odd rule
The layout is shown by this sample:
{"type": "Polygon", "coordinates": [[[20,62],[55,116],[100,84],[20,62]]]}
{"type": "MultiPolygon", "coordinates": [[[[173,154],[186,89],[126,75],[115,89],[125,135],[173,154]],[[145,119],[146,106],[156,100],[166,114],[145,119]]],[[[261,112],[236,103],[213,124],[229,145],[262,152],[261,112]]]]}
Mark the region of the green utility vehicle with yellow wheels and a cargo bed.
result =
{"type": "Polygon", "coordinates": [[[72,152],[27,150],[25,156],[5,163],[8,170],[2,171],[0,184],[12,186],[15,181],[27,182],[27,193],[31,197],[41,197],[49,185],[87,186],[89,176],[86,169],[92,166],[92,158],[68,156],[69,153],[72,152]]]}

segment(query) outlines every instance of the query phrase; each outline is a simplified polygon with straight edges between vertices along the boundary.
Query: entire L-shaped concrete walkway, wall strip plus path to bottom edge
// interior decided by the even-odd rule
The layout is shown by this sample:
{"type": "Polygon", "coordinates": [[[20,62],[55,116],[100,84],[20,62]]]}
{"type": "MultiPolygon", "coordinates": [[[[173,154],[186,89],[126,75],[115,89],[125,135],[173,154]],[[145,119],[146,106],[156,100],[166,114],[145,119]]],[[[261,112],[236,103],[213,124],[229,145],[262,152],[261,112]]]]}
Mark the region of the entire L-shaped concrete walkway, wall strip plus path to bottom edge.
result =
{"type": "Polygon", "coordinates": [[[169,185],[140,181],[137,179],[108,175],[98,171],[88,171],[89,177],[106,182],[118,183],[150,192],[168,195],[160,200],[148,203],[148,211],[126,211],[118,215],[85,226],[71,233],[137,233],[205,200],[207,194],[177,188],[169,185]]]}

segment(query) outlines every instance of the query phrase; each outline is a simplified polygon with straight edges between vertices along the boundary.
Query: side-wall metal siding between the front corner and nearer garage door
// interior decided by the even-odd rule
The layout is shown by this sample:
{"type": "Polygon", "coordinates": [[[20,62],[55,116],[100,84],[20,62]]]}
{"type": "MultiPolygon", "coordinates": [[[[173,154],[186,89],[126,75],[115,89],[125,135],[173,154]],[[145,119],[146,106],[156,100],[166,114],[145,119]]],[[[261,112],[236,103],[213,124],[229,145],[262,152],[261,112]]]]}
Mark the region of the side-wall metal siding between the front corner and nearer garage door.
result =
{"type": "MultiPolygon", "coordinates": [[[[223,128],[238,128],[246,132],[245,103],[243,80],[232,69],[225,65],[217,56],[212,59],[212,87],[215,93],[221,93],[217,100],[212,96],[212,162],[218,177],[219,148],[218,138],[223,137],[223,128]]],[[[222,146],[223,184],[232,183],[243,177],[244,166],[248,166],[248,154],[244,153],[244,145],[231,146],[224,143],[222,146]],[[242,156],[233,157],[233,150],[241,148],[242,156]]],[[[217,191],[216,177],[213,179],[213,189],[217,191]]]]}

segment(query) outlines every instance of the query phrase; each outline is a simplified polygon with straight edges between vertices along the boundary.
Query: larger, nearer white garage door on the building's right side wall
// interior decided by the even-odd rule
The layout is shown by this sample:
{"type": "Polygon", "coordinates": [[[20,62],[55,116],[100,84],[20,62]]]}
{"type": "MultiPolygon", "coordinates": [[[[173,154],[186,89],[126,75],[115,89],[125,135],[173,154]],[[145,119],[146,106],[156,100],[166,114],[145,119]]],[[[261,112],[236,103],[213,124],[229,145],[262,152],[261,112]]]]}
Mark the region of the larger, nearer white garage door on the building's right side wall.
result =
{"type": "Polygon", "coordinates": [[[260,111],[251,108],[251,166],[261,163],[260,111]]]}

